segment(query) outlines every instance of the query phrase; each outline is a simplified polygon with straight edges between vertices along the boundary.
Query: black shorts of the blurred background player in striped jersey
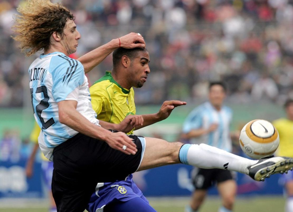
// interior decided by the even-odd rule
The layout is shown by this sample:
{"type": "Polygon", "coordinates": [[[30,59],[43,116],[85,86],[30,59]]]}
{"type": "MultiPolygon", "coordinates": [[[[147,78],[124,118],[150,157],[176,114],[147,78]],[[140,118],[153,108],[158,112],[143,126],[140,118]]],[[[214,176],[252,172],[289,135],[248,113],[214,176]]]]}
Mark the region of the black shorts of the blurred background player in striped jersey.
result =
{"type": "Polygon", "coordinates": [[[192,172],[192,180],[195,189],[206,190],[214,183],[233,179],[232,173],[223,169],[201,169],[195,168],[192,172]]]}

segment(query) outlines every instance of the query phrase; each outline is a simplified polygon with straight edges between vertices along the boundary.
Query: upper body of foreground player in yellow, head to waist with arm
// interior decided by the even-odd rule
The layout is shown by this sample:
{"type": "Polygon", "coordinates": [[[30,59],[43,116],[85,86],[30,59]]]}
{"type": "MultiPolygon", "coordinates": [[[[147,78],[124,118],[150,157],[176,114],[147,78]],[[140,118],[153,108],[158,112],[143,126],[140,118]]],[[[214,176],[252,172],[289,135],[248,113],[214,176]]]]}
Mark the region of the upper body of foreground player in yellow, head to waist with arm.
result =
{"type": "MultiPolygon", "coordinates": [[[[136,114],[132,87],[141,88],[147,81],[147,76],[150,73],[148,63],[149,53],[143,48],[118,48],[113,52],[113,70],[106,71],[105,76],[96,81],[90,88],[91,103],[99,120],[120,123],[126,116],[136,114]],[[123,68],[120,64],[121,58],[123,68]],[[137,62],[129,64],[128,60],[137,60],[137,62]],[[147,66],[147,68],[141,68],[143,66],[147,66]]],[[[182,104],[182,101],[165,101],[158,113],[136,116],[137,119],[142,118],[143,123],[136,126],[135,129],[166,119],[174,107],[182,104]]],[[[128,134],[133,134],[133,130],[128,134]]]]}

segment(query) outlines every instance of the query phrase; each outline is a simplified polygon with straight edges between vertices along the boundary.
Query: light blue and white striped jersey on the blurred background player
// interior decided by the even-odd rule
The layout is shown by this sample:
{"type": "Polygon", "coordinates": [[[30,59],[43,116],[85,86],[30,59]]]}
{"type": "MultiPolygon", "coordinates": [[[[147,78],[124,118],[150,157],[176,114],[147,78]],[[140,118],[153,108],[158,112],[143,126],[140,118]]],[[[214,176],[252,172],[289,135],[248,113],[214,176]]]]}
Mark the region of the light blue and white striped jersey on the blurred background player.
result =
{"type": "Polygon", "coordinates": [[[230,124],[232,121],[232,110],[223,106],[217,111],[210,102],[205,102],[196,107],[188,114],[183,123],[183,133],[188,133],[192,129],[208,129],[213,123],[218,124],[218,128],[208,134],[190,139],[190,143],[205,143],[225,151],[232,151],[230,137],[230,124]]]}

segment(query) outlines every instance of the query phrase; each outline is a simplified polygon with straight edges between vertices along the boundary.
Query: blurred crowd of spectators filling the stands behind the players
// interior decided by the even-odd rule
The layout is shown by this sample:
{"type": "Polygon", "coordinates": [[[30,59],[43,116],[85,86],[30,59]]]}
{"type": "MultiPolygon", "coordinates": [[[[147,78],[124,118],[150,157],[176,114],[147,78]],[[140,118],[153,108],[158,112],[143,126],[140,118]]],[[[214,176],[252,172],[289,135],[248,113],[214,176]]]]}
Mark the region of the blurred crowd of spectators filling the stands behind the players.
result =
{"type": "MultiPolygon", "coordinates": [[[[52,0],[53,2],[56,2],[52,0]]],[[[144,37],[151,73],[137,104],[200,101],[209,81],[223,80],[228,101],[293,98],[292,0],[63,0],[76,16],[82,54],[129,32],[144,37]]],[[[21,0],[0,0],[0,106],[25,104],[28,66],[11,38],[21,0]]],[[[111,70],[109,56],[89,75],[111,70]]]]}

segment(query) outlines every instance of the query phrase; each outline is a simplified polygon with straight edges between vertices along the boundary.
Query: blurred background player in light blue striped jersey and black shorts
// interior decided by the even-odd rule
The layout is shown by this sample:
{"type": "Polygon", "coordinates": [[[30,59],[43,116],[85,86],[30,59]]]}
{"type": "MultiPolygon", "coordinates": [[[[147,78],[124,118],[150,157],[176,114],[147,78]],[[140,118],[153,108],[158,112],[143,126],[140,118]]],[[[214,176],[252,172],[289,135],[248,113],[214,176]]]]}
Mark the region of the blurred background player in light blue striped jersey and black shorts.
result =
{"type": "MultiPolygon", "coordinates": [[[[183,135],[191,143],[206,143],[210,146],[232,151],[230,124],[232,110],[223,105],[226,86],[223,82],[209,84],[209,101],[196,107],[185,119],[183,135]]],[[[220,212],[232,211],[236,195],[236,182],[232,173],[221,169],[195,168],[192,172],[195,191],[191,197],[188,212],[198,211],[207,194],[207,189],[217,182],[217,189],[222,197],[220,212]]]]}

